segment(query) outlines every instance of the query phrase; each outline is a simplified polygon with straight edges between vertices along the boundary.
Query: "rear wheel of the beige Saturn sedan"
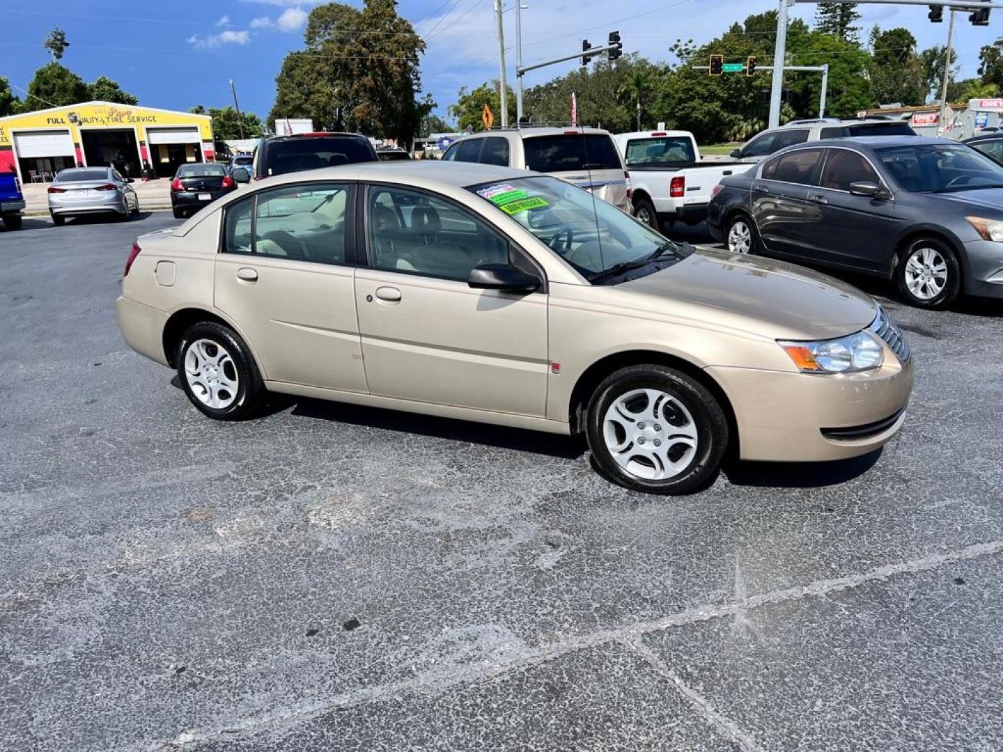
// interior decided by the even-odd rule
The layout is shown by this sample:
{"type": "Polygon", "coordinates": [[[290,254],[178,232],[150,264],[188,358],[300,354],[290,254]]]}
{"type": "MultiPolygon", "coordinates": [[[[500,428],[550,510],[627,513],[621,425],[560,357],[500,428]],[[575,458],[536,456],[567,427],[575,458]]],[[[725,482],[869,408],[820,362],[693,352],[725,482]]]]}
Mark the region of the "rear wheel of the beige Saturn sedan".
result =
{"type": "Polygon", "coordinates": [[[175,362],[192,404],[211,418],[243,420],[264,401],[265,386],[254,358],[230,327],[215,322],[189,327],[175,362]]]}

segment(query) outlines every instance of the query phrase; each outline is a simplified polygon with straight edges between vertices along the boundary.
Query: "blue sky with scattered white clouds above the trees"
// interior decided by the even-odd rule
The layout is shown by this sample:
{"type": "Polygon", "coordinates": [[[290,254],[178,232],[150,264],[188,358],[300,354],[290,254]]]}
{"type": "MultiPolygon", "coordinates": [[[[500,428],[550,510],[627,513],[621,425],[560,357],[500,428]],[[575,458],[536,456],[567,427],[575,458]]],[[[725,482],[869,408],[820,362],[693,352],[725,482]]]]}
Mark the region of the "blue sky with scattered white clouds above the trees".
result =
{"type": "MultiPolygon", "coordinates": [[[[508,0],[512,5],[515,0],[508,0]]],[[[598,45],[619,29],[625,51],[666,59],[676,38],[697,42],[718,35],[733,20],[775,8],[775,0],[523,0],[524,59],[557,57],[580,48],[582,38],[598,45]]],[[[194,104],[230,101],[228,81],[237,82],[241,106],[261,115],[275,93],[275,75],[284,55],[303,43],[303,25],[315,0],[6,0],[0,37],[0,75],[27,85],[48,53],[41,46],[60,26],[70,48],[63,62],[92,80],[104,74],[154,107],[188,109],[194,104]]],[[[359,5],[361,2],[353,2],[359,5]]],[[[491,0],[401,0],[399,12],[428,40],[422,79],[440,113],[457,89],[474,87],[498,73],[491,0]]],[[[925,7],[863,5],[864,23],[905,26],[920,46],[943,44],[947,23],[931,24],[925,7]]],[[[798,5],[795,16],[810,19],[814,6],[798,5]]],[[[515,18],[505,14],[510,78],[515,68],[515,18]]],[[[959,15],[955,44],[962,75],[974,75],[978,51],[1003,28],[1003,13],[992,25],[975,28],[959,15]]],[[[528,85],[574,68],[554,66],[527,76],[528,85]]],[[[21,92],[18,92],[19,94],[21,92]]]]}

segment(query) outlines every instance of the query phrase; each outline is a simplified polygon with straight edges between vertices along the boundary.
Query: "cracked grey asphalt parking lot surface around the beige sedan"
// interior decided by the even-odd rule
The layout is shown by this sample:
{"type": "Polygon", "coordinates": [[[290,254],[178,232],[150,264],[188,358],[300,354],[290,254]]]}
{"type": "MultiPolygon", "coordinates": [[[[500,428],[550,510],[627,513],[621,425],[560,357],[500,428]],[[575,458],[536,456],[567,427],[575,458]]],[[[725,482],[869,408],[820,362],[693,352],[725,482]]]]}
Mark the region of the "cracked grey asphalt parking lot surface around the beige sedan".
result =
{"type": "Polygon", "coordinates": [[[113,314],[175,224],[0,232],[0,749],[1003,746],[1003,305],[854,280],[901,435],[658,498],[544,434],[202,417],[113,314]]]}

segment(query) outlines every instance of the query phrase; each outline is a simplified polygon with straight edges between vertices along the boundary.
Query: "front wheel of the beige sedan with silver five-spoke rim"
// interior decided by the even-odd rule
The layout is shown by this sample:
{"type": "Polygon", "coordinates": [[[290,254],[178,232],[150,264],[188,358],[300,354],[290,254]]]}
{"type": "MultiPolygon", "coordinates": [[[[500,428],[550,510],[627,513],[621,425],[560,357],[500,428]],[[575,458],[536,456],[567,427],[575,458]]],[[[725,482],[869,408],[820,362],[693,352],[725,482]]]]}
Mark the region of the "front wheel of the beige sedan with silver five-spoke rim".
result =
{"type": "Polygon", "coordinates": [[[666,366],[622,368],[589,404],[586,433],[597,469],[633,490],[676,495],[717,472],[728,422],[700,382],[666,366]]]}

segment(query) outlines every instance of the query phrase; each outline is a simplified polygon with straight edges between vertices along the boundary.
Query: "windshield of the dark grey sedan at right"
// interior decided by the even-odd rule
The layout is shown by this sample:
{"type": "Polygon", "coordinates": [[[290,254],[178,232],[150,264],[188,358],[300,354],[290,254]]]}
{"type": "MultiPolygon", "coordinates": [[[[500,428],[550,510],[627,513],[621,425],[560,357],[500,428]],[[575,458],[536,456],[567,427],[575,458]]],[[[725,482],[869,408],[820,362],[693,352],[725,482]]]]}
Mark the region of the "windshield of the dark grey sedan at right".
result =
{"type": "Polygon", "coordinates": [[[899,184],[913,193],[1003,187],[1003,166],[964,144],[879,148],[878,155],[899,184]]]}

